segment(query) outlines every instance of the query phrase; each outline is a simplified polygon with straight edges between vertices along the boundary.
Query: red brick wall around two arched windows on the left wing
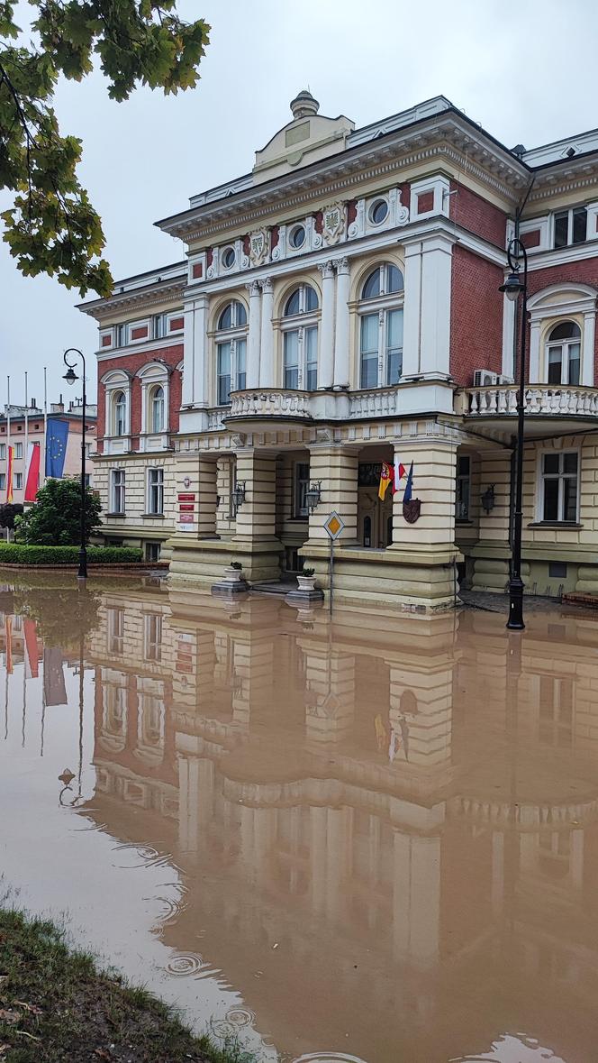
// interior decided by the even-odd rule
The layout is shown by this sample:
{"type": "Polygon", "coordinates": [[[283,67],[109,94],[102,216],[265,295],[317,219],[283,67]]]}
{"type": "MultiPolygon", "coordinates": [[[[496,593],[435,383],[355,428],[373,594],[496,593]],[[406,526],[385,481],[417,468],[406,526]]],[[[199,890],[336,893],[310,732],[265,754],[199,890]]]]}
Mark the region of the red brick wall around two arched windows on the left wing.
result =
{"type": "MultiPolygon", "coordinates": [[[[141,381],[136,375],[143,366],[152,361],[164,361],[172,369],[169,385],[169,432],[178,431],[178,412],[182,399],[182,374],[175,367],[183,361],[183,343],[158,348],[154,351],[135,351],[120,358],[107,358],[99,366],[100,377],[115,369],[121,369],[131,374],[131,435],[133,450],[139,450],[139,433],[141,432],[141,381]]],[[[103,452],[104,426],[106,423],[106,389],[98,384],[98,451],[103,452]]]]}

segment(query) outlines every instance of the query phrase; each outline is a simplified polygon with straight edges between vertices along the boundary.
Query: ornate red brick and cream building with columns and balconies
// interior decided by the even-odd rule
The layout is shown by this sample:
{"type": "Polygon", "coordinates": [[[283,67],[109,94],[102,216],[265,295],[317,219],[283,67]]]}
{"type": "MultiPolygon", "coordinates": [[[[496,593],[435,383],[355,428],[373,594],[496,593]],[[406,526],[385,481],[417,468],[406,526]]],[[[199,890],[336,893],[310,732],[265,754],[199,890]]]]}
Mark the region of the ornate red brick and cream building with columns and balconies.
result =
{"type": "Polygon", "coordinates": [[[363,129],[305,91],[291,111],[251,173],[158,222],[184,260],[82,307],[106,540],[200,585],[235,557],[250,580],[309,562],[325,588],[337,510],[345,601],[443,608],[456,568],[501,590],[518,344],[499,286],[518,215],[524,578],[598,590],[598,134],[508,150],[444,97],[363,129]],[[413,462],[414,523],[403,490],[378,499],[395,458],[413,462]]]}

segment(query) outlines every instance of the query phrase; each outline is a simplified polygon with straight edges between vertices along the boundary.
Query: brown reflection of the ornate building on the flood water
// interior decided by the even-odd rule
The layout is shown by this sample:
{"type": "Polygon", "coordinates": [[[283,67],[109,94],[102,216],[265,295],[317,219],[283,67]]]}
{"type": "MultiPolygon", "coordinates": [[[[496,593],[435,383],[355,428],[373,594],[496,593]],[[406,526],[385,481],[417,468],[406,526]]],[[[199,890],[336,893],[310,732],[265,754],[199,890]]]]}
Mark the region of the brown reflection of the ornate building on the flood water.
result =
{"type": "Polygon", "coordinates": [[[368,629],[340,610],[330,635],[266,598],[104,606],[93,809],[186,874],[169,944],[205,927],[206,961],[283,1048],[346,1027],[363,1059],[428,1063],[511,1023],[590,1058],[595,622],[537,615],[509,644],[483,613],[368,629]],[[567,1008],[585,1032],[563,1032],[567,1008]]]}

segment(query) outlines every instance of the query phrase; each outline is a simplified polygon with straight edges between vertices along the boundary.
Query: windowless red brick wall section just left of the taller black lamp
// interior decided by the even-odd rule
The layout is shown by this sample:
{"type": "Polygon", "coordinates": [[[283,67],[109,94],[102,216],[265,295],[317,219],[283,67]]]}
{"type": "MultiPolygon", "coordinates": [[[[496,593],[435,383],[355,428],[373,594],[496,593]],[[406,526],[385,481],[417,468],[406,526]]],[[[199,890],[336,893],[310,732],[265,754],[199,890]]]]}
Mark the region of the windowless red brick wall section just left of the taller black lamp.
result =
{"type": "Polygon", "coordinates": [[[502,371],[502,296],[499,266],[456,244],[450,287],[450,372],[471,387],[476,369],[502,371]]]}

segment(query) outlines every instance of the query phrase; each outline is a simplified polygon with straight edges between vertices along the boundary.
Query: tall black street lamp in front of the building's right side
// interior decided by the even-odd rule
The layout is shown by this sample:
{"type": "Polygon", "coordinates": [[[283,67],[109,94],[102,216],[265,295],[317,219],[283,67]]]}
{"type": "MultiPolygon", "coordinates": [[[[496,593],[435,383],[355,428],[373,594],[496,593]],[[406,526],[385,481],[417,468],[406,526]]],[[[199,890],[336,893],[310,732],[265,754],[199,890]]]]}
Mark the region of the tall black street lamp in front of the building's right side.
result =
{"type": "Polygon", "coordinates": [[[517,443],[515,461],[515,512],[513,519],[513,557],[511,561],[511,575],[509,577],[509,620],[507,627],[512,631],[523,631],[524,624],[524,581],[522,579],[522,533],[524,524],[523,494],[524,494],[524,428],[526,412],[526,327],[527,327],[527,305],[528,305],[528,255],[518,236],[509,243],[507,252],[511,272],[505,284],[500,285],[499,291],[503,291],[507,299],[516,303],[519,296],[522,299],[522,343],[519,353],[519,388],[517,391],[517,443]],[[519,275],[520,263],[524,259],[524,276],[519,275]]]}

